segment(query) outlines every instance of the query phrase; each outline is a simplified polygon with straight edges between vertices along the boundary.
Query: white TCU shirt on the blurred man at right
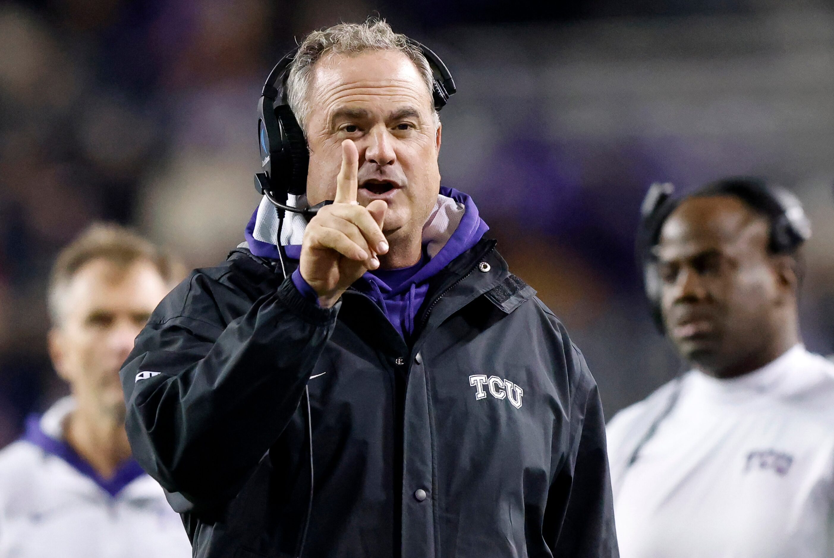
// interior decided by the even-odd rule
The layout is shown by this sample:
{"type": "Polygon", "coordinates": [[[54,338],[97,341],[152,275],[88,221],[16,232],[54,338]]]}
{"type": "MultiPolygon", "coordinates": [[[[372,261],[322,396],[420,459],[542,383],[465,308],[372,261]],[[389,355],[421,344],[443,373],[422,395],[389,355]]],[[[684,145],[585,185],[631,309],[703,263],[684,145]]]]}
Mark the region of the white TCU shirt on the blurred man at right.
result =
{"type": "Polygon", "coordinates": [[[621,558],[834,556],[834,364],[801,345],[733,380],[688,372],[607,435],[621,558]]]}

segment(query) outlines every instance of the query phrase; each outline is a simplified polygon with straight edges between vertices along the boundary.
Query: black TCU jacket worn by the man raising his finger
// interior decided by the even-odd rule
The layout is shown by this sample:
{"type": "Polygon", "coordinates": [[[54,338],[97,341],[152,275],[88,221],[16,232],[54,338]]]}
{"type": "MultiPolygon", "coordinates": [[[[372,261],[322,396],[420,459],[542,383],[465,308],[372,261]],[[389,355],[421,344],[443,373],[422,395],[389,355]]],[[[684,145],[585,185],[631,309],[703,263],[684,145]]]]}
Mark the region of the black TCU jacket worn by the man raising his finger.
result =
{"type": "Polygon", "coordinates": [[[194,556],[617,556],[594,379],[494,241],[415,324],[351,289],[319,308],[247,250],[163,300],[127,429],[194,556]]]}

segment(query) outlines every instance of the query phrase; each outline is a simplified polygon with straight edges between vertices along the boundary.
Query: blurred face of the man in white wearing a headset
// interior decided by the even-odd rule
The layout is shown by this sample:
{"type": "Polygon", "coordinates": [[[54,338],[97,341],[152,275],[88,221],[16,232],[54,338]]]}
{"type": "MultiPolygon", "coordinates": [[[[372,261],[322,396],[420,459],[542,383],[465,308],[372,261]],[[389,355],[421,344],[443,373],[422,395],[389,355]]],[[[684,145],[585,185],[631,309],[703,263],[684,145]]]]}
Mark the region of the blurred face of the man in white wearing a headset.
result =
{"type": "Polygon", "coordinates": [[[767,250],[769,224],[733,196],[687,199],[656,247],[666,331],[681,355],[716,376],[746,372],[795,304],[785,267],[767,250]],[[740,368],[741,367],[741,368],[740,368]]]}

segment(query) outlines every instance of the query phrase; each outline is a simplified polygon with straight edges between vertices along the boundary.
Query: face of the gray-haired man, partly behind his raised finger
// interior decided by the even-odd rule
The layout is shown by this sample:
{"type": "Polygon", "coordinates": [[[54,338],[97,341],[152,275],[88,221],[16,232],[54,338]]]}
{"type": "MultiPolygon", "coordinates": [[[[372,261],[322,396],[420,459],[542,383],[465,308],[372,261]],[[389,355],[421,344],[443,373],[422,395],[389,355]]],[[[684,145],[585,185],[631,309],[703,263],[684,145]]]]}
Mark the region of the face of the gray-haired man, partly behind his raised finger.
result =
{"type": "Polygon", "coordinates": [[[388,204],[383,233],[414,239],[437,201],[440,127],[420,73],[403,53],[329,55],[314,66],[307,137],[310,204],[334,199],[341,144],[359,150],[359,204],[388,204]]]}

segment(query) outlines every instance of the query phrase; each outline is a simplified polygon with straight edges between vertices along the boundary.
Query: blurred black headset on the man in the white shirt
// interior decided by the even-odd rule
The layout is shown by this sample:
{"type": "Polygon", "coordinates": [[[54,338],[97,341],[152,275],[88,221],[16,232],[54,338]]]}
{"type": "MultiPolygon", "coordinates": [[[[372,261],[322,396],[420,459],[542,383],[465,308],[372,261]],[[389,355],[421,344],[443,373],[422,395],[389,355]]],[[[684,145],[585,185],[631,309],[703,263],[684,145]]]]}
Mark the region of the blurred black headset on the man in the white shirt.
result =
{"type": "Polygon", "coordinates": [[[751,209],[770,220],[768,249],[771,254],[793,254],[811,238],[811,223],[799,199],[786,189],[768,184],[761,178],[723,178],[680,198],[676,198],[674,194],[675,188],[671,183],[654,183],[649,187],[641,205],[641,221],[637,230],[635,250],[643,273],[651,317],[661,333],[665,333],[661,310],[661,278],[654,248],[660,240],[661,228],[666,219],[685,199],[720,195],[741,199],[751,209]]]}

